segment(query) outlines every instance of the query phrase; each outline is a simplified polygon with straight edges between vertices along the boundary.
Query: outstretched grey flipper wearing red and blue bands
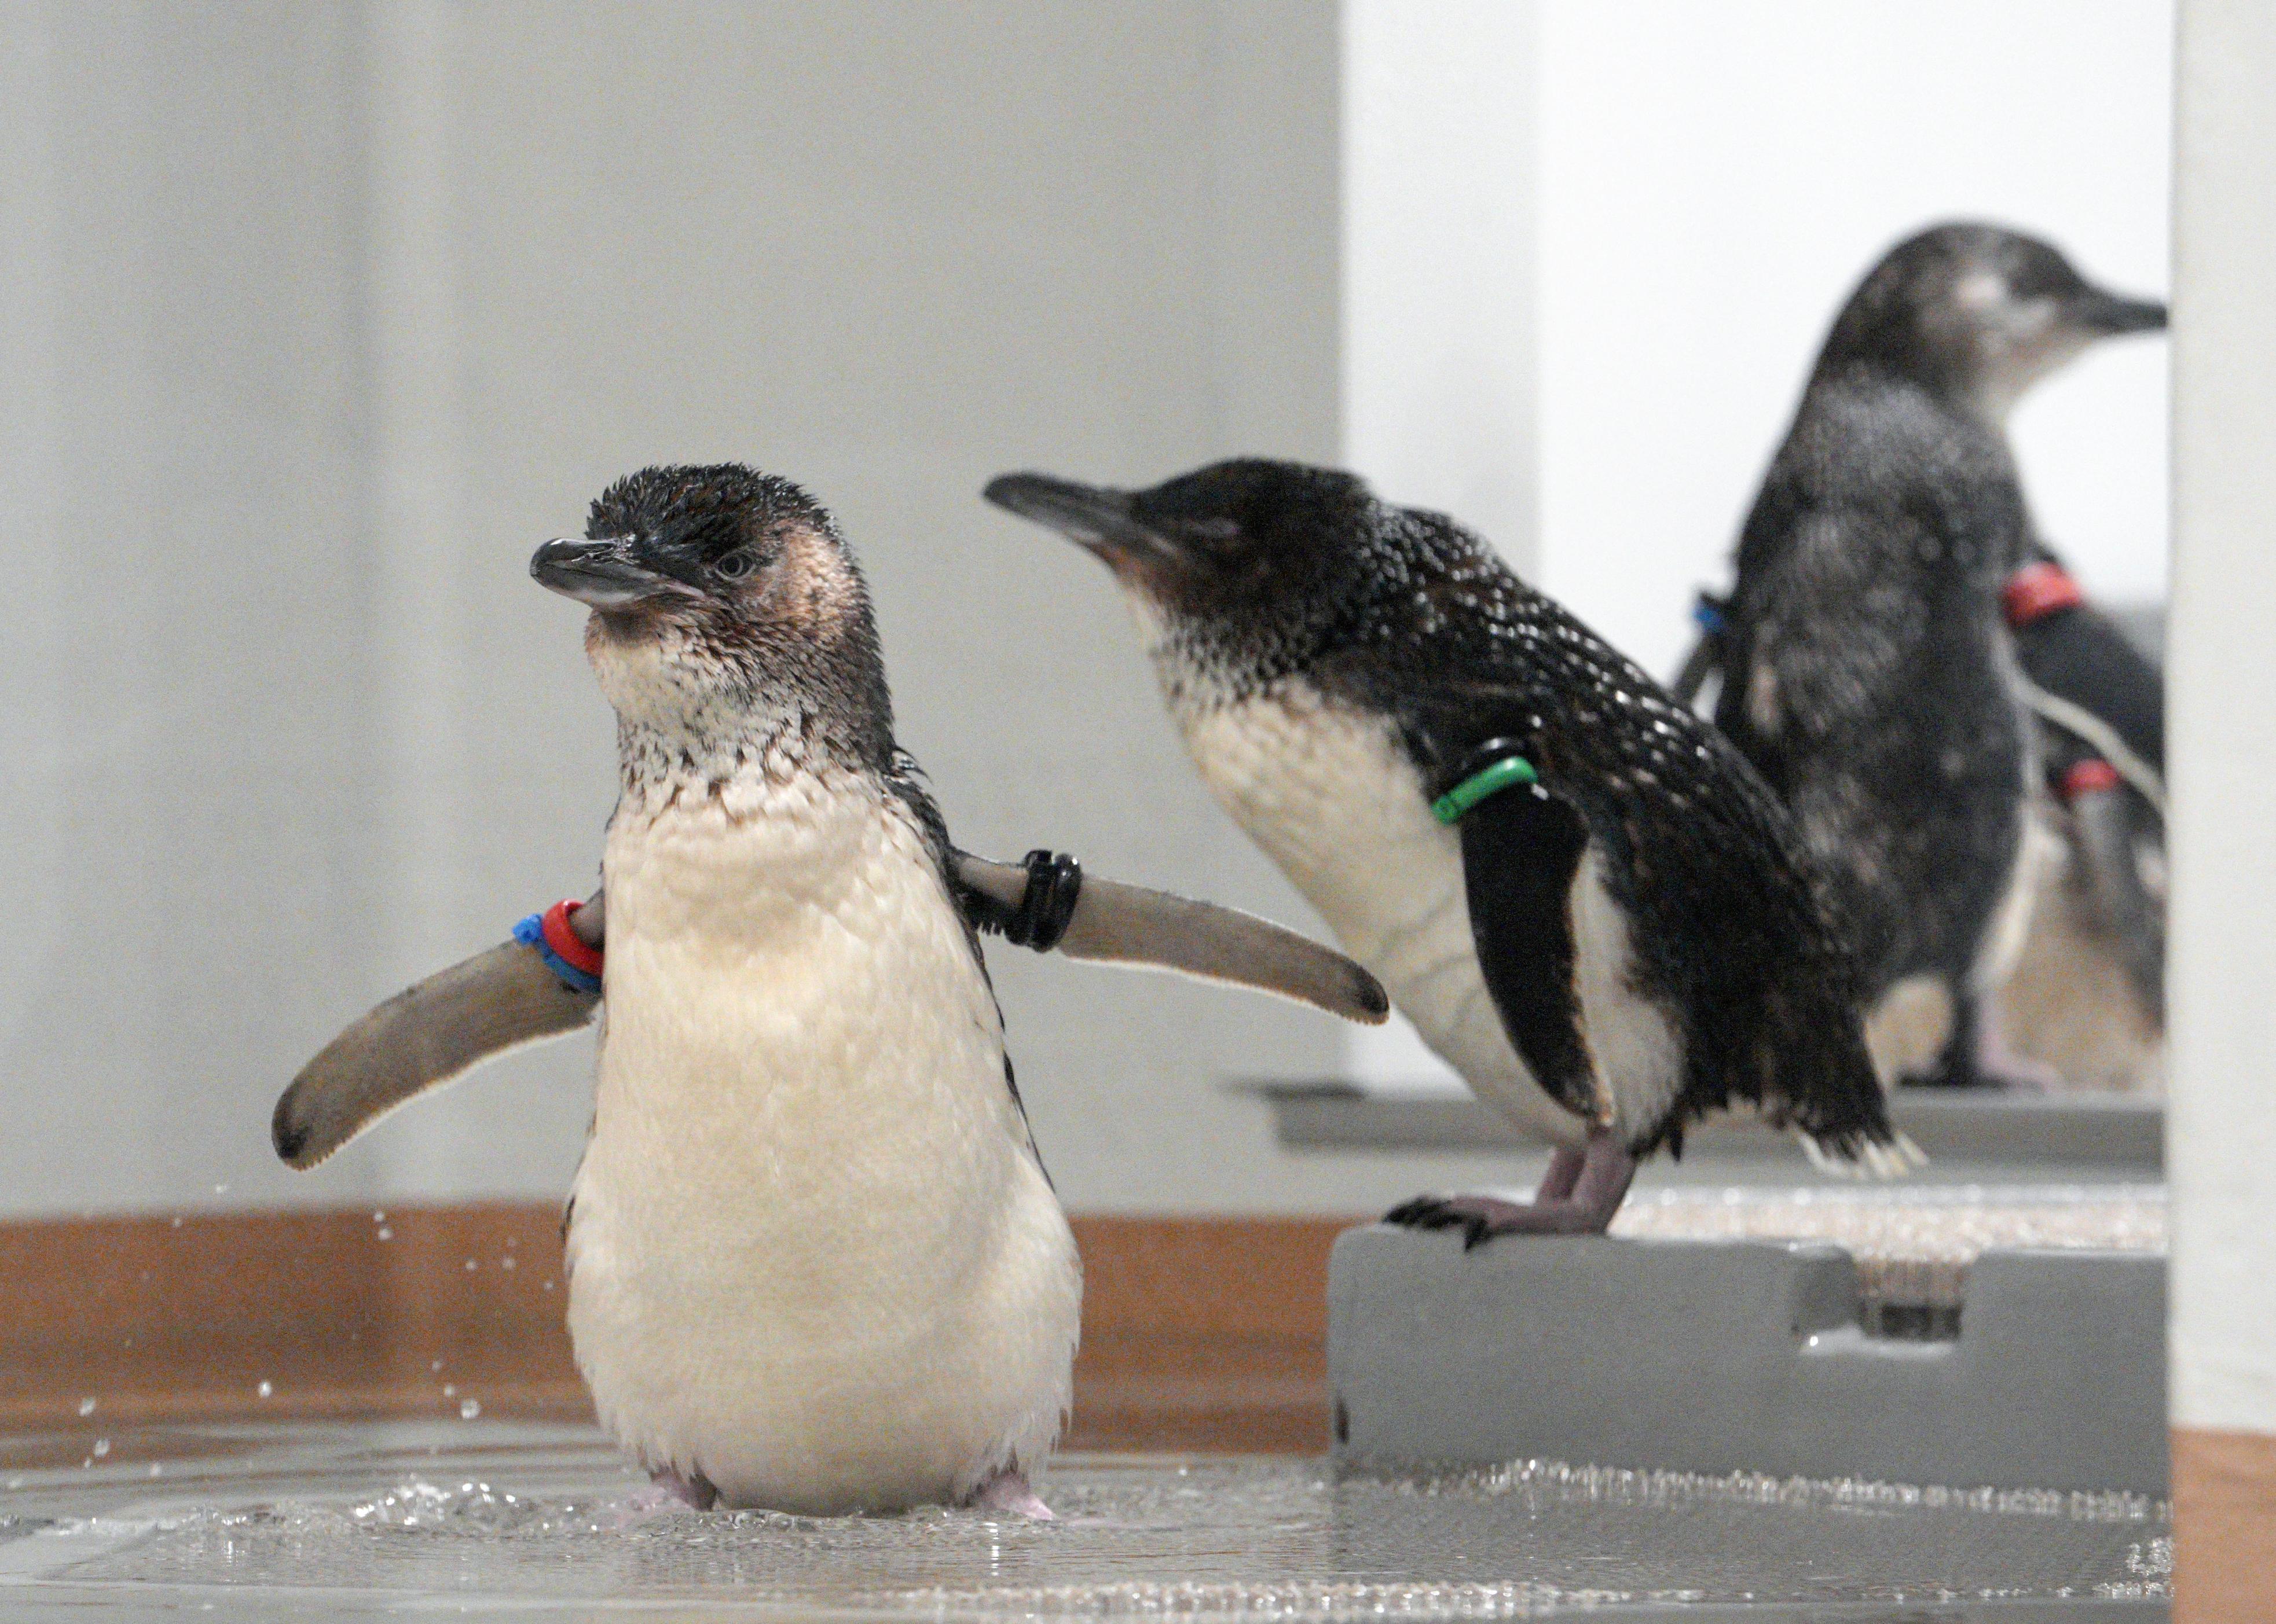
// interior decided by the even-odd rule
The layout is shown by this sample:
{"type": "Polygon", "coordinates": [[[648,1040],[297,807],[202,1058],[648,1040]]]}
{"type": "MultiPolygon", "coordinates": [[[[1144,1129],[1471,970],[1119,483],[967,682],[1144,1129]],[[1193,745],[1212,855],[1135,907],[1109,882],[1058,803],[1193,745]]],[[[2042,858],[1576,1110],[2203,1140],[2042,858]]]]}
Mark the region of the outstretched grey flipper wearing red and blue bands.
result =
{"type": "Polygon", "coordinates": [[[501,942],[405,987],[325,1044],[278,1099],[269,1137],[287,1165],[314,1167],[414,1094],[574,1033],[599,1001],[564,987],[535,948],[501,942]]]}

